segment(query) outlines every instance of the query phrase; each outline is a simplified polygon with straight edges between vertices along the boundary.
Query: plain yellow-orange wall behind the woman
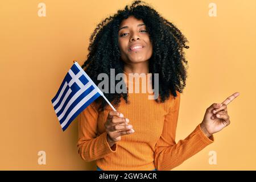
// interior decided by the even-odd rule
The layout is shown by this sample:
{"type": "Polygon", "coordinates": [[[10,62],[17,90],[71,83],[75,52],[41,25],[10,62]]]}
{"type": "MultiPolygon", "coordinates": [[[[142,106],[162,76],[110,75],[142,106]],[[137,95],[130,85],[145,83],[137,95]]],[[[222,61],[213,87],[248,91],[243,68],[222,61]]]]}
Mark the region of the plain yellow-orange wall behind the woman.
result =
{"type": "MultiPolygon", "coordinates": [[[[231,125],[175,170],[256,169],[256,1],[146,1],[189,40],[187,87],[181,94],[176,139],[195,129],[213,102],[234,92],[231,125]],[[210,17],[209,3],[217,5],[210,17]],[[217,152],[210,165],[209,151],[217,152]]],[[[2,1],[0,3],[0,169],[89,170],[77,153],[77,119],[63,132],[52,108],[74,59],[81,65],[101,19],[131,1],[2,1]],[[38,4],[46,4],[46,17],[38,4]],[[46,165],[38,164],[46,151],[46,165]]]]}

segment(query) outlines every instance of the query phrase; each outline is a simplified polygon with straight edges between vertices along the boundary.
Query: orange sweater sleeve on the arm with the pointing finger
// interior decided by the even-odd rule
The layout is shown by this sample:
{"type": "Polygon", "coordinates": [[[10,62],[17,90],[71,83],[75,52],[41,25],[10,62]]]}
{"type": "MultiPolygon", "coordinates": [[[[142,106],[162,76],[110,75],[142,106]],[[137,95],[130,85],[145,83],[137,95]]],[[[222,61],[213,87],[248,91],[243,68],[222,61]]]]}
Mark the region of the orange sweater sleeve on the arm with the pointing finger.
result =
{"type": "Polygon", "coordinates": [[[213,135],[208,138],[201,131],[200,125],[197,125],[196,129],[187,138],[176,143],[175,135],[179,106],[180,93],[177,92],[177,97],[173,100],[166,115],[162,135],[156,143],[154,159],[155,167],[158,170],[167,171],[179,166],[214,141],[213,135]]]}

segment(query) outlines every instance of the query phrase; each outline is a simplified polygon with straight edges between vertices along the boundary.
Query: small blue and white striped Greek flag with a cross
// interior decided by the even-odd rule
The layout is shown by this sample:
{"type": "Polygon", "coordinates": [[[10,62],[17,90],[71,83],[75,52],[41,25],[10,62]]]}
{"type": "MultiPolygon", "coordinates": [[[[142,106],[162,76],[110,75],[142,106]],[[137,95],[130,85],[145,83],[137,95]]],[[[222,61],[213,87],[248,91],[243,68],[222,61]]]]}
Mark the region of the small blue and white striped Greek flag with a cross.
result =
{"type": "Polygon", "coordinates": [[[102,95],[101,90],[75,62],[65,76],[56,96],[52,98],[52,105],[63,131],[82,110],[102,95]]]}

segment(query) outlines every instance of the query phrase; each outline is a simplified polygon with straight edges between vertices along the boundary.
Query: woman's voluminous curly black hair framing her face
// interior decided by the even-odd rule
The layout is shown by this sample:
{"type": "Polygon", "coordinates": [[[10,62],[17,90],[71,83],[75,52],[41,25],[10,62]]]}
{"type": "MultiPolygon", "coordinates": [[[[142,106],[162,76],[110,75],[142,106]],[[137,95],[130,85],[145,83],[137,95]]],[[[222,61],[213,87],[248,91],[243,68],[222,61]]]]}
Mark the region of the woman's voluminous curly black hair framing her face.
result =
{"type": "MultiPolygon", "coordinates": [[[[183,92],[187,78],[185,66],[188,61],[185,59],[183,47],[189,48],[185,45],[188,40],[173,23],[164,19],[143,1],[134,1],[130,7],[125,6],[125,9],[118,10],[116,14],[97,25],[90,36],[89,53],[82,68],[96,85],[100,82],[97,80],[100,73],[110,76],[110,69],[115,69],[115,74],[123,73],[124,64],[118,47],[118,28],[122,20],[129,16],[142,19],[150,35],[153,52],[149,60],[149,72],[152,75],[159,74],[159,98],[155,101],[164,102],[170,94],[177,97],[176,90],[183,92]]],[[[153,85],[154,76],[152,76],[153,85]]],[[[104,95],[115,107],[118,107],[121,98],[129,104],[127,93],[104,93],[104,95]]],[[[107,105],[102,97],[98,97],[96,103],[100,105],[99,110],[104,110],[107,105]]]]}

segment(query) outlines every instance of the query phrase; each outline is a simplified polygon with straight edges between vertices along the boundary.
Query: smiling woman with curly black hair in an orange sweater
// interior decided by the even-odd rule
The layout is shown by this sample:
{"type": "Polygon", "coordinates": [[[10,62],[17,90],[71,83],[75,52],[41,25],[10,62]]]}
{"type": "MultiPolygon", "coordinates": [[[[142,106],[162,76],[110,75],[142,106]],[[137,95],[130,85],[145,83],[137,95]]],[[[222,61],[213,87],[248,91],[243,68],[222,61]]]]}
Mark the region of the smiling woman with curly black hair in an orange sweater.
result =
{"type": "MultiPolygon", "coordinates": [[[[98,75],[110,76],[111,69],[125,77],[157,73],[159,81],[150,79],[159,97],[150,100],[149,92],[104,92],[117,111],[100,97],[79,115],[77,146],[82,159],[96,160],[98,170],[170,170],[212,143],[213,134],[229,125],[226,105],[238,93],[208,107],[195,130],[175,142],[180,93],[187,77],[186,42],[174,24],[141,1],[98,24],[82,65],[90,78],[98,85],[98,75]]],[[[132,81],[123,79],[126,91],[132,81]]],[[[116,84],[102,89],[111,90],[116,84]]]]}

